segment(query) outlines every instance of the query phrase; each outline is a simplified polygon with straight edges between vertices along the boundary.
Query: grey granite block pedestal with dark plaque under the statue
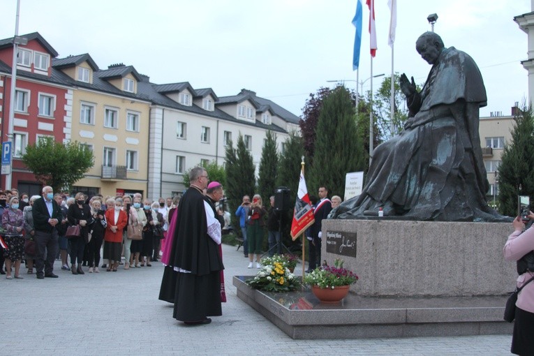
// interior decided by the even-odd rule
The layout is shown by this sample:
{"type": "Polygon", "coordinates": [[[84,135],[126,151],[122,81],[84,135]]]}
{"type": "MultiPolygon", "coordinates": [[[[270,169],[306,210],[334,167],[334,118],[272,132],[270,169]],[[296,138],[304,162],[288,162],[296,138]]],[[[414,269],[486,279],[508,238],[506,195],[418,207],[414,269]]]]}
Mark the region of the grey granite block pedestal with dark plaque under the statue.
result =
{"type": "Polygon", "coordinates": [[[491,296],[514,289],[503,246],[511,223],[322,221],[322,260],[345,260],[362,296],[491,296]]]}

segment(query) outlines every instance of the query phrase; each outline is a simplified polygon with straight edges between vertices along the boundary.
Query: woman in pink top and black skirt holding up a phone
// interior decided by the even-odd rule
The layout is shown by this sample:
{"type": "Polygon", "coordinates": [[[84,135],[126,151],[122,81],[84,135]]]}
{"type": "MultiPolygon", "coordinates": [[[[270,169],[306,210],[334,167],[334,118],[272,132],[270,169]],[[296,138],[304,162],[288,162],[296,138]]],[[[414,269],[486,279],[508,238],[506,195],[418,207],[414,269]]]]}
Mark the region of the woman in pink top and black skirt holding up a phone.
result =
{"type": "MultiPolygon", "coordinates": [[[[529,212],[528,218],[534,220],[534,213],[529,212]]],[[[521,216],[517,216],[512,225],[514,232],[508,237],[503,251],[505,260],[518,261],[534,250],[534,228],[523,232],[525,224],[521,221],[521,216]]],[[[530,283],[533,277],[534,271],[526,269],[517,278],[517,288],[524,288],[517,295],[512,334],[511,352],[516,355],[534,355],[534,282],[530,283]]]]}

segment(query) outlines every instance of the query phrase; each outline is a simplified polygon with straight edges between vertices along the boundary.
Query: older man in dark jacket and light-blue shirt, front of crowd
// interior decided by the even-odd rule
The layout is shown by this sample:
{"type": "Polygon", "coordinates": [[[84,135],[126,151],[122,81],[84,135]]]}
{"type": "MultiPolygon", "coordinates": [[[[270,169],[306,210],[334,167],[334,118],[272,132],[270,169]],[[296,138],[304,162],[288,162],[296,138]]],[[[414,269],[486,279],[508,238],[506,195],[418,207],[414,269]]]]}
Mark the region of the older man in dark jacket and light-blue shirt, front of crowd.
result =
{"type": "Polygon", "coordinates": [[[43,196],[36,199],[31,214],[34,216],[35,242],[37,247],[36,269],[37,279],[57,278],[54,274],[54,258],[57,255],[57,229],[63,214],[51,186],[43,188],[43,196]],[[45,261],[46,251],[46,261],[45,261]],[[44,269],[44,273],[43,273],[44,269]]]}

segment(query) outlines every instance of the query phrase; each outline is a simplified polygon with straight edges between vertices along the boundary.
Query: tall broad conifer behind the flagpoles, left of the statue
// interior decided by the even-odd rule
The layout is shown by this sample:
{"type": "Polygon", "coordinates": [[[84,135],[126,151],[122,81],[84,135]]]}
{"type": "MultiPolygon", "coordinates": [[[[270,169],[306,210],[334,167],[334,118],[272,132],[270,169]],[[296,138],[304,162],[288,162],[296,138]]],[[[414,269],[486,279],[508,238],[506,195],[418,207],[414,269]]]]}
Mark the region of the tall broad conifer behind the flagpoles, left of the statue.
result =
{"type": "Polygon", "coordinates": [[[347,172],[364,170],[364,142],[359,138],[355,108],[350,92],[336,87],[322,103],[316,129],[315,155],[306,177],[308,191],[319,186],[329,188],[330,195],[345,193],[347,172]]]}

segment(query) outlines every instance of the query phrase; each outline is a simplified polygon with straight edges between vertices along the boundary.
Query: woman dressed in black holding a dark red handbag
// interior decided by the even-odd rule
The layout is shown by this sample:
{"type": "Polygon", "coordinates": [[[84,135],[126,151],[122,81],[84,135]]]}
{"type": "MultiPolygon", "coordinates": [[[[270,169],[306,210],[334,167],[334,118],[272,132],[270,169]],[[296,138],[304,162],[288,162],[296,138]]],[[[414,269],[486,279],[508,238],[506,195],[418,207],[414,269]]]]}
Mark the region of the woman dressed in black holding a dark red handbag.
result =
{"type": "Polygon", "coordinates": [[[76,193],[75,204],[68,207],[67,218],[68,223],[71,226],[80,225],[79,236],[68,236],[69,243],[71,244],[71,271],[73,274],[85,274],[82,269],[82,260],[84,258],[85,244],[89,239],[89,227],[93,223],[93,214],[91,214],[91,208],[85,204],[84,193],[76,193]],[[76,260],[78,262],[76,268],[76,260]]]}

